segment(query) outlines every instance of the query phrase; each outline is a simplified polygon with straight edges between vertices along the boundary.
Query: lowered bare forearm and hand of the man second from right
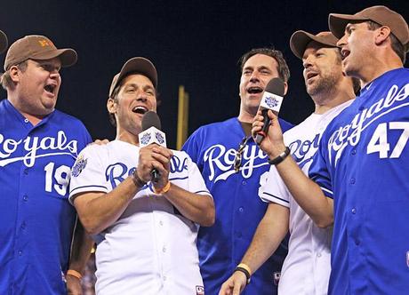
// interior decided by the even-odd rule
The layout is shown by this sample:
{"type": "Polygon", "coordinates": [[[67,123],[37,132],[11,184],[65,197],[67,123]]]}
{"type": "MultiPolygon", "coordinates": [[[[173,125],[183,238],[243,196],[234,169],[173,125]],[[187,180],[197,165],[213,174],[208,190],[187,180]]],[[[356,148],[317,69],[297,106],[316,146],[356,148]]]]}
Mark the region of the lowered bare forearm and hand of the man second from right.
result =
{"type": "MultiPolygon", "coordinates": [[[[253,241],[245,252],[241,263],[250,267],[252,273],[269,259],[277,250],[288,232],[290,211],[277,203],[269,203],[269,207],[261,219],[253,236],[253,241]]],[[[219,295],[238,295],[245,289],[246,277],[240,271],[235,271],[229,279],[221,285],[219,295]]]]}

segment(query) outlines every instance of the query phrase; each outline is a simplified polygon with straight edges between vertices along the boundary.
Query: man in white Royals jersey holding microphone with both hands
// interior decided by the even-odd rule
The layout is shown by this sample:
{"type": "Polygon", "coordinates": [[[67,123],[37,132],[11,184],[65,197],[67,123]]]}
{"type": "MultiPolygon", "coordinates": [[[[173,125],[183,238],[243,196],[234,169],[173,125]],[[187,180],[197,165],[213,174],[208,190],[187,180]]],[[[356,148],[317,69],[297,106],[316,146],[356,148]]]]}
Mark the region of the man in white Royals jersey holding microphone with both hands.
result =
{"type": "Polygon", "coordinates": [[[140,147],[156,89],[150,60],[126,61],[108,94],[116,140],[84,148],[71,172],[70,201],[98,243],[97,294],[204,294],[196,236],[213,225],[213,197],[185,152],[140,147]]]}

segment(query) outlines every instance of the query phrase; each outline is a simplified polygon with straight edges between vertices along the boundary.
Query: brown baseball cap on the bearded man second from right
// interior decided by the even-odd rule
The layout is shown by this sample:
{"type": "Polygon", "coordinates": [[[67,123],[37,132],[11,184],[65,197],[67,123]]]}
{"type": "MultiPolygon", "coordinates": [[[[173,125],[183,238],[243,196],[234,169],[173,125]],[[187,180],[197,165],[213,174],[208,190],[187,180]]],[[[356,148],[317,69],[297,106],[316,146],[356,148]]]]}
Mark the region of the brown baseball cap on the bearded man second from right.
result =
{"type": "Polygon", "coordinates": [[[302,60],[305,49],[311,41],[316,41],[325,46],[337,47],[338,39],[331,32],[320,32],[317,35],[306,31],[296,31],[290,38],[290,48],[294,55],[302,60]]]}

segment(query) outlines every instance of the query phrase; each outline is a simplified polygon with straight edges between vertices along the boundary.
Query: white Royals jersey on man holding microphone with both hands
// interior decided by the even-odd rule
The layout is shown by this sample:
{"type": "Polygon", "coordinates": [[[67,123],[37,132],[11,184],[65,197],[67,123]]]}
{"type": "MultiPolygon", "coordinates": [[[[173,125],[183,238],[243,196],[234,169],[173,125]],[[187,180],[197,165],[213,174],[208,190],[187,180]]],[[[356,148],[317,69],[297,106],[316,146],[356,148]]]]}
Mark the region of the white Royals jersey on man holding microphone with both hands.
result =
{"type": "MultiPolygon", "coordinates": [[[[85,192],[108,193],[134,171],[140,148],[120,140],[84,148],[72,169],[70,200],[85,192]]],[[[210,195],[196,164],[173,151],[171,182],[210,195]]],[[[198,225],[186,219],[150,183],[122,216],[95,236],[98,294],[203,294],[196,249],[198,225]]]]}

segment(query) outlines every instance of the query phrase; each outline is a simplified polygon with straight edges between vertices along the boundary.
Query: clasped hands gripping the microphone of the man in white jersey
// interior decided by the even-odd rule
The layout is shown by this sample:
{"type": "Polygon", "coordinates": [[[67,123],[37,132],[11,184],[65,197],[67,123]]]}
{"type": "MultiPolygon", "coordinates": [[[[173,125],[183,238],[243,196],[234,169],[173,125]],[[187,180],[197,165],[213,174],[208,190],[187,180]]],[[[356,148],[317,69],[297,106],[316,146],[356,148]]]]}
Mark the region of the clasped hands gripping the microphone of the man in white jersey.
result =
{"type": "Polygon", "coordinates": [[[172,151],[168,148],[156,144],[140,148],[140,159],[137,167],[138,177],[148,182],[152,180],[150,172],[156,169],[159,172],[160,179],[152,182],[156,190],[162,189],[168,182],[169,171],[171,170],[172,151]]]}

